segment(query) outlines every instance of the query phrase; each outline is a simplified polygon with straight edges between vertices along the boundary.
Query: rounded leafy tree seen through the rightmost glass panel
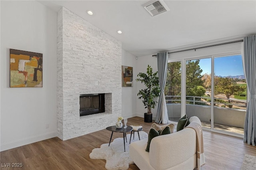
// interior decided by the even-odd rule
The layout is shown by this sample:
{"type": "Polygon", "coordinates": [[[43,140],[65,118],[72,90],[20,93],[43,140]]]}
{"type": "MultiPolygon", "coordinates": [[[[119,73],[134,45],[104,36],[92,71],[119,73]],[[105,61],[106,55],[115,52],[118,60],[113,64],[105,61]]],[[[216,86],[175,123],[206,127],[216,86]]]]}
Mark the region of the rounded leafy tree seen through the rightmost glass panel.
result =
{"type": "Polygon", "coordinates": [[[236,84],[236,81],[233,78],[222,78],[216,77],[214,78],[214,94],[225,94],[227,99],[230,98],[233,94],[238,94],[240,92],[244,92],[246,86],[239,86],[236,84]]]}

